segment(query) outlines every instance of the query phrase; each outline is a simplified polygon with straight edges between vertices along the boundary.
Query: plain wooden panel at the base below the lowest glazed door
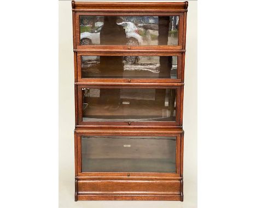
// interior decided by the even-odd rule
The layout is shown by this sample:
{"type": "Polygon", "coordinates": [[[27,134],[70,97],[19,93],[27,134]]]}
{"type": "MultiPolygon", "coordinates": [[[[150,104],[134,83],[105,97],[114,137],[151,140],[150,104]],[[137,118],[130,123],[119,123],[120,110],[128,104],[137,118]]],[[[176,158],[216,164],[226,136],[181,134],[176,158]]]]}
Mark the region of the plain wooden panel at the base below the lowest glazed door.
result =
{"type": "Polygon", "coordinates": [[[181,181],[83,180],[78,181],[78,194],[179,195],[181,181]]]}

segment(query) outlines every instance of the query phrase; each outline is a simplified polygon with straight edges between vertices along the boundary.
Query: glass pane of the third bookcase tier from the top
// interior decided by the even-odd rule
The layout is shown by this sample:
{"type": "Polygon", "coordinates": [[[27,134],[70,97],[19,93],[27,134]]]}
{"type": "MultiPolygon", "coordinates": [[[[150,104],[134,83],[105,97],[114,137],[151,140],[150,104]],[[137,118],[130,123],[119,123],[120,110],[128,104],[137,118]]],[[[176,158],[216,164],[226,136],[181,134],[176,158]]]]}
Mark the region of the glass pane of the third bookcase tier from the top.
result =
{"type": "Polygon", "coordinates": [[[82,91],[83,121],[176,121],[176,89],[82,91]]]}

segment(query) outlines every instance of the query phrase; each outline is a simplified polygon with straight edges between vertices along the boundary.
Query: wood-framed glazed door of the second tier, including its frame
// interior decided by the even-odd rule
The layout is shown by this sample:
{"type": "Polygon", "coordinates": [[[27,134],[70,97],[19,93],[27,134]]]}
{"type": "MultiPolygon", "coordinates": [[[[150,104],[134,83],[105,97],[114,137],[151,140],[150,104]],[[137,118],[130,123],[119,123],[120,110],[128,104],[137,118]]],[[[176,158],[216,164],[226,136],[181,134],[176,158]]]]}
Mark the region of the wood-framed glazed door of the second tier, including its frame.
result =
{"type": "MultiPolygon", "coordinates": [[[[100,54],[100,53],[98,53],[100,54]]],[[[168,56],[104,56],[92,52],[78,53],[79,82],[181,82],[182,54],[168,56]]]]}

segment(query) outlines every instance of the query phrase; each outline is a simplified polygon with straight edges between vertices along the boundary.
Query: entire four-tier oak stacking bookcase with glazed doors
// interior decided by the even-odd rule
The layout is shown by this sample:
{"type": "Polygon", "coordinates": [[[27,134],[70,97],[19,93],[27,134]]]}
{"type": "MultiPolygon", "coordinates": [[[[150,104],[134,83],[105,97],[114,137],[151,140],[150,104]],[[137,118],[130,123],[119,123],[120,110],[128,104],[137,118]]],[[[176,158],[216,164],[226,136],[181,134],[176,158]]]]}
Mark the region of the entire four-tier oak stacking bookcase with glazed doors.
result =
{"type": "Polygon", "coordinates": [[[188,2],[74,2],[75,201],[183,201],[188,2]]]}

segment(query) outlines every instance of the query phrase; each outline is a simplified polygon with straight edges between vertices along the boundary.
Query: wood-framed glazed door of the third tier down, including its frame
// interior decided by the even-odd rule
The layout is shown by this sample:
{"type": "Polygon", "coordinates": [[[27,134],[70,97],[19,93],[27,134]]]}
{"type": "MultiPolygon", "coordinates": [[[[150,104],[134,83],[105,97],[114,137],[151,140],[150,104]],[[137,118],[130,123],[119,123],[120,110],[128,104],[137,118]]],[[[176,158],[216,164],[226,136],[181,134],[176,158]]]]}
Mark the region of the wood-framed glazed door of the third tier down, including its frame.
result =
{"type": "Polygon", "coordinates": [[[181,87],[78,86],[78,125],[179,125],[181,87]]]}

